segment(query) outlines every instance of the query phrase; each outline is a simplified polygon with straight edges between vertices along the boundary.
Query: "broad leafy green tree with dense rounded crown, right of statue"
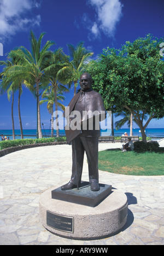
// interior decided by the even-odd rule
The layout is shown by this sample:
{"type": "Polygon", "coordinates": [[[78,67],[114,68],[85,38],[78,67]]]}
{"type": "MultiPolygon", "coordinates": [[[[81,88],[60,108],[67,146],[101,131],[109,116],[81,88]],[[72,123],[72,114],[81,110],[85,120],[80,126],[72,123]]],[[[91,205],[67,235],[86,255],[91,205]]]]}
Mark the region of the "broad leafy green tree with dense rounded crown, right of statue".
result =
{"type": "Polygon", "coordinates": [[[88,68],[93,87],[102,94],[106,109],[114,106],[116,112],[123,107],[130,111],[144,142],[147,141],[144,130],[149,122],[164,116],[162,41],[164,38],[147,35],[133,43],[126,42],[121,50],[107,48],[88,68]],[[145,115],[149,118],[144,124],[145,115]]]}

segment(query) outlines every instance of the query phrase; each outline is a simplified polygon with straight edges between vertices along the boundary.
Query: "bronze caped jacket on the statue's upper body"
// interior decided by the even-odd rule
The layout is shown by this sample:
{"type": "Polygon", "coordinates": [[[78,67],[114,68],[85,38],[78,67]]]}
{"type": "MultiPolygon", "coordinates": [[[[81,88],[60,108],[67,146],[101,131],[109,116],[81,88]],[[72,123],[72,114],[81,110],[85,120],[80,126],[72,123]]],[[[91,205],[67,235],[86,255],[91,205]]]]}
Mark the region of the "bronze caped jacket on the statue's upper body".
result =
{"type": "Polygon", "coordinates": [[[83,128],[79,130],[72,130],[69,122],[69,116],[71,115],[72,111],[79,111],[81,114],[81,119],[79,120],[80,128],[83,127],[83,124],[93,118],[93,113],[95,112],[96,115],[99,115],[99,120],[103,121],[105,116],[105,108],[103,104],[102,97],[99,93],[95,92],[91,88],[83,92],[80,90],[69,103],[68,107],[66,108],[65,112],[63,113],[63,117],[67,118],[67,128],[65,127],[67,142],[70,143],[74,138],[76,138],[80,133],[80,136],[100,136],[100,129],[92,129],[83,130],[83,128]],[[84,94],[84,95],[83,95],[84,94]],[[83,115],[83,111],[87,112],[87,115],[83,115]]]}

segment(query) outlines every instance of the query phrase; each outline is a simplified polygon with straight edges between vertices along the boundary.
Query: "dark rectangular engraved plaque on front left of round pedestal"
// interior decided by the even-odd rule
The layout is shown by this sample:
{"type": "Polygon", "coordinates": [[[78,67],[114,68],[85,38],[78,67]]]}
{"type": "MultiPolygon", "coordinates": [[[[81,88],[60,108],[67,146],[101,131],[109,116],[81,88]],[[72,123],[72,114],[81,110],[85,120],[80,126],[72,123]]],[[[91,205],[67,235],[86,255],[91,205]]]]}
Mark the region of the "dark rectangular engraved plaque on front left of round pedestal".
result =
{"type": "Polygon", "coordinates": [[[54,229],[73,233],[73,217],[66,217],[46,211],[46,224],[54,229]]]}

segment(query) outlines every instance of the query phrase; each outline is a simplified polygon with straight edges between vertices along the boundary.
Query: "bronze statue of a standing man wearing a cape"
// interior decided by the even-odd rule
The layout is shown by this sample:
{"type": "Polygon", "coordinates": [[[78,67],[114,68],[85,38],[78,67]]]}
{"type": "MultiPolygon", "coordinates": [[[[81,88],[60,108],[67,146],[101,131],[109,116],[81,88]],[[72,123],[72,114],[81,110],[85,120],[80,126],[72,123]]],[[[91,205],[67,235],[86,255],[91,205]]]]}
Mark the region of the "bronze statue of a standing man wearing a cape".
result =
{"type": "MultiPolygon", "coordinates": [[[[84,152],[86,152],[89,166],[89,182],[92,191],[99,190],[98,184],[98,137],[100,136],[99,121],[105,117],[105,108],[101,95],[91,89],[92,78],[88,73],[80,77],[81,90],[68,105],[63,114],[67,120],[72,113],[79,113],[77,123],[79,129],[66,130],[67,142],[72,141],[72,176],[71,180],[61,187],[62,190],[70,190],[79,187],[83,170],[84,152]],[[68,110],[68,111],[67,111],[68,110]],[[69,117],[68,117],[69,116],[69,117]],[[98,118],[98,127],[96,120],[98,118]],[[90,126],[91,124],[91,126],[90,126]]],[[[77,126],[78,127],[78,126],[77,126]]]]}

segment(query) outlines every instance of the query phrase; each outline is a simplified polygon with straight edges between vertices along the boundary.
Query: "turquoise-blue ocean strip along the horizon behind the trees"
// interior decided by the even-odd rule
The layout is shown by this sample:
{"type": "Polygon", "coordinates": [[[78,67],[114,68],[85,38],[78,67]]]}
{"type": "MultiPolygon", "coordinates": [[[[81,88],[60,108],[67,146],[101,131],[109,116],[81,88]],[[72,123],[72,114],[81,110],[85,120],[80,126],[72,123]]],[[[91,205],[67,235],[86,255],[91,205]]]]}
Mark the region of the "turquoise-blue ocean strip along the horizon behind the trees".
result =
{"type": "MultiPolygon", "coordinates": [[[[23,130],[24,132],[24,139],[36,139],[36,133],[37,130],[33,129],[33,130],[23,130]]],[[[114,129],[114,136],[121,136],[124,133],[127,133],[128,135],[130,135],[130,129],[119,129],[116,130],[114,129]]],[[[48,138],[49,136],[51,136],[51,130],[49,129],[45,129],[42,130],[43,136],[44,138],[48,138]]],[[[147,128],[145,130],[145,133],[147,134],[147,136],[151,136],[152,138],[164,138],[164,128],[147,128]]],[[[0,130],[0,134],[3,134],[4,136],[9,136],[10,140],[13,139],[13,131],[12,130],[0,130]]],[[[54,130],[54,136],[56,135],[56,130],[54,130]]],[[[65,136],[65,130],[60,130],[60,136],[65,136]]],[[[109,136],[111,135],[111,130],[101,130],[101,136],[109,136]]],[[[133,129],[133,135],[135,136],[141,136],[140,133],[140,129],[133,129]]],[[[1,139],[1,138],[0,138],[1,139]]],[[[20,130],[15,130],[15,139],[21,139],[20,136],[20,130]]]]}

